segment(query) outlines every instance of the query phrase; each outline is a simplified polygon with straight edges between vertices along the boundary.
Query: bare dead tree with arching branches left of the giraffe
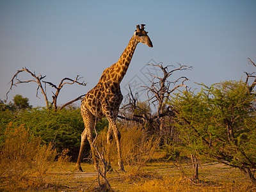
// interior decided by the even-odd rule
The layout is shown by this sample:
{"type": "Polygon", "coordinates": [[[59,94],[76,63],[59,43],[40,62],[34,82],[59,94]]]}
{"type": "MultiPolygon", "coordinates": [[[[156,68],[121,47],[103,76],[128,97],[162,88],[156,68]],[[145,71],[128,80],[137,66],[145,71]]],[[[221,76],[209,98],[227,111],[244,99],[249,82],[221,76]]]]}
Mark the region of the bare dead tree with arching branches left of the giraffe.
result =
{"type": "MultiPolygon", "coordinates": [[[[52,86],[53,88],[56,89],[56,92],[52,92],[53,96],[52,96],[52,102],[51,104],[53,104],[54,106],[54,109],[57,110],[57,99],[58,99],[58,95],[60,93],[60,90],[61,88],[63,88],[63,86],[65,84],[79,84],[79,85],[82,85],[82,86],[86,86],[86,83],[84,83],[84,81],[82,83],[79,82],[79,80],[83,77],[79,77],[77,76],[75,80],[73,79],[70,79],[68,77],[65,77],[61,80],[60,84],[58,85],[58,87],[49,82],[49,81],[43,81],[43,79],[45,78],[46,76],[42,76],[41,74],[38,74],[36,75],[35,72],[31,72],[28,68],[26,67],[23,67],[21,70],[18,70],[16,72],[16,74],[14,74],[14,76],[12,77],[12,80],[10,81],[11,83],[11,86],[10,86],[10,89],[8,90],[8,92],[6,93],[6,99],[8,99],[8,93],[12,90],[13,86],[17,86],[17,84],[20,84],[20,83],[30,83],[30,82],[35,82],[36,84],[38,84],[38,87],[36,88],[36,97],[38,97],[38,90],[41,90],[41,93],[44,95],[44,99],[45,99],[45,104],[46,104],[46,107],[47,109],[49,108],[49,99],[47,97],[47,92],[46,92],[46,84],[52,86]],[[27,81],[22,81],[20,79],[18,79],[18,75],[21,73],[21,72],[28,72],[28,74],[30,74],[32,76],[31,79],[27,80],[27,81]]],[[[85,94],[84,94],[85,95],[85,94]]],[[[68,104],[72,104],[73,102],[76,102],[77,100],[79,99],[82,99],[84,97],[84,95],[80,95],[79,97],[77,97],[76,99],[74,100],[71,100],[70,102],[67,102],[66,104],[64,104],[63,106],[61,106],[60,109],[63,109],[65,108],[65,106],[67,106],[68,104]]],[[[38,97],[40,99],[40,97],[38,97]]]]}

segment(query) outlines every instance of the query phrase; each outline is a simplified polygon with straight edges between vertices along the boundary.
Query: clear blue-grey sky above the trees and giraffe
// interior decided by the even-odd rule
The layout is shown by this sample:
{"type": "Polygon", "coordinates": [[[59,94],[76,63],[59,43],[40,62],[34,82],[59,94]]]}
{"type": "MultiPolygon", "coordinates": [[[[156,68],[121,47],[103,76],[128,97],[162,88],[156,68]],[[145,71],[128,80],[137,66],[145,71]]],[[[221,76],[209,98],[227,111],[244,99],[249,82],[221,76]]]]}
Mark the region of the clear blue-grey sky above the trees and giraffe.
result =
{"type": "MultiPolygon", "coordinates": [[[[256,1],[8,1],[0,0],[0,99],[5,99],[15,72],[27,67],[58,84],[63,77],[83,76],[87,86],[67,86],[59,104],[88,92],[102,71],[115,63],[136,29],[146,30],[154,47],[139,44],[125,86],[134,79],[147,84],[143,67],[154,60],[164,65],[192,65],[180,73],[188,83],[207,85],[239,80],[256,71],[256,1]]],[[[20,76],[28,79],[29,76],[20,76]]],[[[173,79],[174,80],[174,79],[173,79]]],[[[19,84],[10,92],[28,97],[33,106],[36,84],[19,84]]],[[[47,88],[51,99],[51,88],[47,88]]]]}

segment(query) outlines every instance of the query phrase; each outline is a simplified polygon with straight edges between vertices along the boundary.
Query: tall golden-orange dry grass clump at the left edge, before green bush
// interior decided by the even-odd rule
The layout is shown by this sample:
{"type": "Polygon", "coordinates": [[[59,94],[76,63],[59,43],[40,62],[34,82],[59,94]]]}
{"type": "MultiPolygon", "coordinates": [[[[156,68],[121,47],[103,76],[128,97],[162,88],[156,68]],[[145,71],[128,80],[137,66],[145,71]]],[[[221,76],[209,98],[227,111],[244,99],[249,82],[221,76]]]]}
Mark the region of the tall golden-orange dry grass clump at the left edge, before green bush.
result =
{"type": "Polygon", "coordinates": [[[6,128],[0,152],[0,189],[28,189],[45,184],[47,170],[57,155],[52,145],[41,145],[39,137],[23,125],[6,128]]]}

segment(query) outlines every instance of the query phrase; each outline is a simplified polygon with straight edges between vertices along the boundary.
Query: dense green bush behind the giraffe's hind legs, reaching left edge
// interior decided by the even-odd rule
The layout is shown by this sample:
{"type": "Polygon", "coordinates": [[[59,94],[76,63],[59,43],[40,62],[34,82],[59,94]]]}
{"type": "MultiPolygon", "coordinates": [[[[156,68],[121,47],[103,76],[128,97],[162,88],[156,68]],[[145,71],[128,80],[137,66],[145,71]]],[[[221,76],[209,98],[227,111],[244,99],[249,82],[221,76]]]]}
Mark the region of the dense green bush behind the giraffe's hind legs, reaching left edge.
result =
{"type": "MultiPolygon", "coordinates": [[[[72,161],[77,160],[81,143],[81,134],[84,130],[84,122],[80,109],[61,109],[60,111],[45,108],[33,108],[23,111],[0,111],[0,148],[3,145],[3,134],[10,122],[20,126],[25,124],[29,132],[34,136],[40,136],[44,144],[52,143],[54,148],[61,153],[68,148],[68,156],[72,161]]],[[[108,125],[105,118],[98,122],[96,129],[104,129],[108,125]]],[[[87,143],[85,150],[90,150],[87,143]]]]}

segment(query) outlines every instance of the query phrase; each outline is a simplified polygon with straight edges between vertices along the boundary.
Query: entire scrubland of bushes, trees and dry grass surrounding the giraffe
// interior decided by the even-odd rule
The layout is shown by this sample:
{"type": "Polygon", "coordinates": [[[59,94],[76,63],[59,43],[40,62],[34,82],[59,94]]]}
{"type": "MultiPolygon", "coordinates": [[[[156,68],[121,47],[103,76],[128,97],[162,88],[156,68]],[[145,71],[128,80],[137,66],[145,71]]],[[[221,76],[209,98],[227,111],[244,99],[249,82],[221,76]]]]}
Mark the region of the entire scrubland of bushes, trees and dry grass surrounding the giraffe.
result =
{"type": "Polygon", "coordinates": [[[129,93],[117,122],[126,172],[116,170],[115,140],[112,172],[104,172],[108,120],[96,125],[105,178],[94,170],[89,144],[84,172],[76,172],[79,108],[33,108],[20,95],[1,101],[0,191],[256,191],[255,80],[248,79],[200,84],[198,92],[163,92],[160,79],[152,84],[163,96],[151,97],[159,99],[156,113],[129,93]]]}

